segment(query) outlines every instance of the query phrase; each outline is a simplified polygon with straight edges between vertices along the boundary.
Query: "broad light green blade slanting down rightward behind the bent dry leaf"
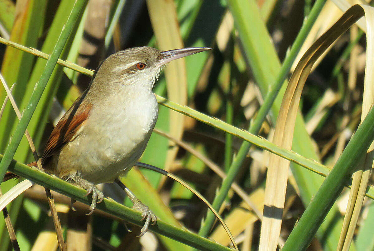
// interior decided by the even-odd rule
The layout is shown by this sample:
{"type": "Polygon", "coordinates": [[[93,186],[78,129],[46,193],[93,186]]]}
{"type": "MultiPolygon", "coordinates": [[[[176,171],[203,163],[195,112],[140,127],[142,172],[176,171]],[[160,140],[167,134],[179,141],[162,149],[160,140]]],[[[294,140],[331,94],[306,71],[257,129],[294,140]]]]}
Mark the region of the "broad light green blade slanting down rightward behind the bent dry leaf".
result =
{"type": "MultiPolygon", "coordinates": [[[[243,3],[240,2],[240,4],[237,4],[237,10],[244,12],[245,14],[239,16],[241,19],[239,22],[237,22],[236,27],[239,31],[240,40],[242,41],[243,48],[246,52],[245,55],[248,57],[251,70],[254,73],[254,78],[260,87],[261,93],[263,96],[265,96],[269,87],[270,90],[274,90],[276,88],[273,86],[273,84],[276,83],[275,80],[281,66],[276,54],[276,50],[271,43],[272,40],[267,34],[266,28],[263,24],[259,24],[259,15],[250,15],[248,13],[249,10],[255,8],[245,8],[243,7],[243,4],[246,3],[243,1],[243,3]],[[255,21],[253,20],[254,18],[255,21]]],[[[284,91],[285,86],[283,86],[279,91],[279,94],[272,106],[270,117],[273,124],[275,124],[284,91]]],[[[306,132],[303,118],[300,116],[300,114],[298,114],[296,118],[294,134],[297,135],[297,137],[294,137],[293,139],[292,149],[299,154],[302,154],[304,157],[318,161],[319,157],[315,152],[315,148],[309,134],[306,132]]],[[[321,185],[323,182],[323,179],[314,174],[310,174],[306,170],[300,168],[300,166],[292,163],[291,170],[296,182],[298,183],[301,200],[303,201],[304,205],[307,205],[318,189],[319,185],[321,185]]],[[[335,250],[338,242],[341,230],[341,220],[336,219],[335,216],[337,213],[337,208],[334,207],[328,214],[327,220],[324,222],[318,232],[318,237],[320,237],[322,240],[321,244],[326,250],[335,250]],[[328,233],[325,233],[326,230],[328,230],[328,233]]]]}

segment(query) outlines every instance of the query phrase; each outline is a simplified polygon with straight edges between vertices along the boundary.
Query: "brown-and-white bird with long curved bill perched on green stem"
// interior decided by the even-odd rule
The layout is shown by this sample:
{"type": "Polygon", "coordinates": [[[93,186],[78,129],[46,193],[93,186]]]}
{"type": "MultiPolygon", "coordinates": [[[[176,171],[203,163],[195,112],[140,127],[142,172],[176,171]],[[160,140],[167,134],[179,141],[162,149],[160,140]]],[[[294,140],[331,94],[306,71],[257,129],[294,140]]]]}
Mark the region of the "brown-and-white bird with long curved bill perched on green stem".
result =
{"type": "MultiPolygon", "coordinates": [[[[41,158],[45,172],[74,182],[87,195],[92,194],[89,214],[104,198],[96,185],[118,183],[133,209],[145,219],[139,236],[143,235],[157,217],[123,186],[119,177],[141,157],[156,124],[158,104],[152,89],[163,66],[206,50],[211,48],[162,52],[143,46],[108,56],[50,134],[41,158]]],[[[12,177],[14,174],[7,173],[4,180],[12,177]]]]}

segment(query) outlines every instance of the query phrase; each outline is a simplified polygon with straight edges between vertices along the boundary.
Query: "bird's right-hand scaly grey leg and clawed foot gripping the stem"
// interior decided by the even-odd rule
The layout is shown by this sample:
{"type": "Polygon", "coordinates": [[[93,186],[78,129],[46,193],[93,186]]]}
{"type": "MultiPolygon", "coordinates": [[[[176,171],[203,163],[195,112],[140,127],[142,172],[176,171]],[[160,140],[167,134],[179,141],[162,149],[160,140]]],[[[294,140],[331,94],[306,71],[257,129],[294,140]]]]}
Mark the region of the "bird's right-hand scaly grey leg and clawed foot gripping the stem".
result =
{"type": "Polygon", "coordinates": [[[141,216],[143,217],[142,220],[147,218],[145,220],[144,226],[140,230],[140,235],[137,236],[137,237],[140,237],[144,235],[145,232],[147,232],[149,223],[151,223],[151,221],[152,221],[152,225],[156,224],[157,217],[151,210],[149,210],[149,208],[146,205],[144,205],[134,195],[134,193],[130,191],[130,189],[126,188],[126,186],[119,179],[116,179],[115,182],[120,186],[120,188],[122,188],[127,193],[127,196],[129,196],[129,199],[131,200],[133,204],[132,209],[141,213],[141,216]]]}

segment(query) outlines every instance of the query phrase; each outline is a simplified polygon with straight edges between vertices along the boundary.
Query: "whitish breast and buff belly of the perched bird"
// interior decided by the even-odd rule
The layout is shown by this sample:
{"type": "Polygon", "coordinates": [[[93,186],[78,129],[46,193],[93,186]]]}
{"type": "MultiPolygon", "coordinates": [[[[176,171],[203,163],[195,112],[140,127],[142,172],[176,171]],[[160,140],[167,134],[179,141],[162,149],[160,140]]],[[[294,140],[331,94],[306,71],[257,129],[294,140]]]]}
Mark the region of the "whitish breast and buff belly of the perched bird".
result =
{"type": "MultiPolygon", "coordinates": [[[[95,184],[113,182],[127,173],[147,146],[157,120],[154,94],[141,94],[131,102],[124,97],[122,106],[105,113],[98,111],[101,108],[93,108],[82,130],[85,133],[67,145],[70,161],[59,161],[58,168],[64,168],[60,164],[68,165],[83,179],[95,184]]],[[[112,102],[116,101],[108,100],[107,107],[118,104],[112,102]]]]}

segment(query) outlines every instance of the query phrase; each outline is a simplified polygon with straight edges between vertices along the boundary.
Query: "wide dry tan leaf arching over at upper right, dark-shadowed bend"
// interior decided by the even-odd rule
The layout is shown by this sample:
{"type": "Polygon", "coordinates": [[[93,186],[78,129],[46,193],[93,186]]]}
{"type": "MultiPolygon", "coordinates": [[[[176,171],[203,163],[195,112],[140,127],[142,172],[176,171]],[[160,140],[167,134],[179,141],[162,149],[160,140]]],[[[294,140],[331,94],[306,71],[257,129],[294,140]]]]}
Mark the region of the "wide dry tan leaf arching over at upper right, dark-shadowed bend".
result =
{"type": "MultiPolygon", "coordinates": [[[[292,74],[278,115],[273,143],[286,149],[291,149],[294,133],[295,119],[300,102],[301,92],[305,81],[316,60],[343,34],[350,26],[365,15],[371,12],[370,6],[354,5],[335,24],[325,32],[318,40],[312,44],[304,56],[298,62],[292,74]]],[[[369,14],[374,17],[373,14],[369,14]]],[[[373,38],[367,39],[368,55],[373,55],[369,49],[373,38]],[[370,52],[370,53],[369,53],[370,52]]],[[[367,61],[367,67],[373,67],[372,60],[367,61]]],[[[365,74],[370,71],[374,74],[373,68],[366,68],[365,74]]],[[[365,75],[365,83],[370,77],[365,75]]],[[[373,78],[371,78],[373,80],[373,78]]],[[[373,83],[373,81],[371,81],[373,83]]],[[[366,86],[365,86],[366,87],[366,86]]],[[[374,92],[373,92],[374,93],[374,92]]],[[[366,115],[366,113],[364,113],[366,115]]],[[[261,224],[260,248],[259,250],[276,250],[277,242],[281,230],[282,213],[285,202],[285,192],[287,186],[289,161],[276,155],[270,156],[269,168],[264,198],[264,213],[261,224]]]]}

